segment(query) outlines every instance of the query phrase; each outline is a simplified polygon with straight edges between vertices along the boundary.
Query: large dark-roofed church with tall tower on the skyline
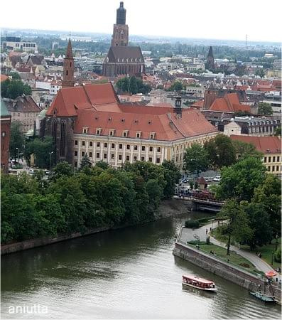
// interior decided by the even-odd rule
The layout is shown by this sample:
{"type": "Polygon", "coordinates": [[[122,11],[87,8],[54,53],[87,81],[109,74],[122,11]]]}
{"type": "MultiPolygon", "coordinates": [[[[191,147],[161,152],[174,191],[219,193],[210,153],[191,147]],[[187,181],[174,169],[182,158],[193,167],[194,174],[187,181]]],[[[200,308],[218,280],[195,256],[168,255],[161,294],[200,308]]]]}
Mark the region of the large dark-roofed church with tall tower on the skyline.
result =
{"type": "Polygon", "coordinates": [[[144,58],[141,48],[128,46],[129,26],[126,24],[126,9],[121,2],[116,10],[116,23],[112,35],[112,43],[103,63],[103,75],[116,77],[117,75],[136,75],[145,73],[144,58]]]}

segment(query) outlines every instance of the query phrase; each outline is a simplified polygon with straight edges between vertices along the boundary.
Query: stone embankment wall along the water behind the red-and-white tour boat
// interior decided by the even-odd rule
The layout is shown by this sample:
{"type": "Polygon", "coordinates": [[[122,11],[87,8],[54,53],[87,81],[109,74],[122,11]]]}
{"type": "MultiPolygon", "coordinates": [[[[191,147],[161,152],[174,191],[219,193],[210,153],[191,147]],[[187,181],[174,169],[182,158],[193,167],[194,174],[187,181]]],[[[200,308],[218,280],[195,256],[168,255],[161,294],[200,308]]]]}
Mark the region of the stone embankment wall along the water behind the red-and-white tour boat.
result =
{"type": "Polygon", "coordinates": [[[273,282],[273,284],[269,285],[262,277],[241,270],[239,267],[224,262],[217,257],[208,255],[195,247],[180,242],[179,239],[180,235],[178,235],[178,238],[176,239],[173,255],[187,260],[213,274],[217,274],[250,291],[258,291],[259,288],[261,288],[266,294],[274,296],[281,301],[281,288],[277,282],[273,282]]]}

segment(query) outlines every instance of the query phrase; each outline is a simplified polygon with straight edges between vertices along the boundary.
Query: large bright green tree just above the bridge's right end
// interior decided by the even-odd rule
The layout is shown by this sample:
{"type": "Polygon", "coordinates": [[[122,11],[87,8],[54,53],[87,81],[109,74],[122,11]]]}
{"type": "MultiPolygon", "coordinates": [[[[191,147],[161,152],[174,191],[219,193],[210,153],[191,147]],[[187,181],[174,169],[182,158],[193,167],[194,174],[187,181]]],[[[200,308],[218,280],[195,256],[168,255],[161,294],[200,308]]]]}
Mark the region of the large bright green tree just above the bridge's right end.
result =
{"type": "Polygon", "coordinates": [[[250,201],[254,188],[264,182],[266,168],[260,159],[248,157],[221,171],[222,180],[217,188],[217,198],[250,201]]]}

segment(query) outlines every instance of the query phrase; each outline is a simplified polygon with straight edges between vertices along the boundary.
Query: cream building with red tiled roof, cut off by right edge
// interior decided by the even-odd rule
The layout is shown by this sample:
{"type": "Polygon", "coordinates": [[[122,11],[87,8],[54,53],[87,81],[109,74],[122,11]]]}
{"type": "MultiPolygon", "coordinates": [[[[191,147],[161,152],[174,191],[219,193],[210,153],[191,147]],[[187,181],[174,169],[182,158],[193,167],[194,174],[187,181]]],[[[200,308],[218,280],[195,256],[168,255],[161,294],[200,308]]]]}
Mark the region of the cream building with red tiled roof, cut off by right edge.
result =
{"type": "Polygon", "coordinates": [[[249,137],[231,135],[232,140],[253,144],[256,150],[264,154],[267,172],[281,176],[281,139],[278,137],[249,137]]]}

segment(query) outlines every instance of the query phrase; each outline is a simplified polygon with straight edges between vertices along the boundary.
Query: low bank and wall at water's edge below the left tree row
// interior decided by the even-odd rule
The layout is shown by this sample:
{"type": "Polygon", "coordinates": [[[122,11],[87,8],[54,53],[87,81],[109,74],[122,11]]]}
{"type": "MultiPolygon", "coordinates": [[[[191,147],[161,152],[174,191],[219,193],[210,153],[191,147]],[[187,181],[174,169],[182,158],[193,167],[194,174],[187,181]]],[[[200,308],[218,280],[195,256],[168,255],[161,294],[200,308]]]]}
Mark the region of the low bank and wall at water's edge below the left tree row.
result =
{"type": "MultiPolygon", "coordinates": [[[[150,221],[149,220],[143,221],[143,223],[149,223],[149,222],[153,222],[163,218],[169,218],[175,215],[181,215],[183,213],[188,213],[188,212],[190,212],[190,210],[188,209],[188,206],[185,203],[179,203],[175,199],[164,200],[164,201],[161,201],[158,214],[155,216],[155,218],[150,221]]],[[[140,223],[140,224],[143,224],[143,223],[140,223]]],[[[87,230],[83,234],[71,233],[70,235],[58,235],[57,237],[54,237],[54,238],[46,237],[46,238],[29,239],[21,242],[13,242],[7,245],[1,245],[1,255],[8,255],[13,252],[32,249],[33,247],[41,247],[43,245],[52,245],[53,243],[56,243],[56,242],[80,238],[80,237],[84,237],[85,235],[92,235],[94,233],[102,233],[108,230],[116,230],[116,229],[131,227],[131,226],[133,225],[118,225],[118,226],[107,225],[102,228],[87,230]]]]}

